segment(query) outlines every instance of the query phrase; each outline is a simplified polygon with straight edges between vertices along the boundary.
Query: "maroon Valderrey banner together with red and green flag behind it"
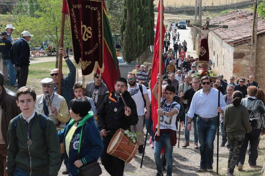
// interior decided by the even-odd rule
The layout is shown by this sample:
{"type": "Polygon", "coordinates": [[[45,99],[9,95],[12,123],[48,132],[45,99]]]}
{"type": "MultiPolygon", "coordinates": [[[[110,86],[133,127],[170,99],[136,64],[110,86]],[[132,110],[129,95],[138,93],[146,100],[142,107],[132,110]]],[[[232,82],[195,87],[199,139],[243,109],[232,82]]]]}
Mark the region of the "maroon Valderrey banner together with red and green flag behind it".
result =
{"type": "Polygon", "coordinates": [[[69,12],[74,60],[81,64],[82,75],[97,72],[108,90],[114,90],[120,69],[105,1],[64,1],[62,13],[69,12]]]}

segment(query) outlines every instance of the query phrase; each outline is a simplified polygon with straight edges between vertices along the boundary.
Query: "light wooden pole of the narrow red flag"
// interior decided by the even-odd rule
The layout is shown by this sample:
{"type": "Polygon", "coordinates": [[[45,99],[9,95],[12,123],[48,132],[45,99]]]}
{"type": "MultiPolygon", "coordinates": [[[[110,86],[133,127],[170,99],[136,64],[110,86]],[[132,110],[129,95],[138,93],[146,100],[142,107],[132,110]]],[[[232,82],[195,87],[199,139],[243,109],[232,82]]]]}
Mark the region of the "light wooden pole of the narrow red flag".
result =
{"type": "MultiPolygon", "coordinates": [[[[160,0],[160,38],[159,38],[159,74],[161,75],[161,67],[162,67],[162,37],[163,37],[163,3],[160,0]]],[[[161,102],[161,80],[158,80],[158,109],[160,109],[160,102],[161,102]]],[[[157,136],[160,136],[160,114],[157,115],[157,136]]]]}

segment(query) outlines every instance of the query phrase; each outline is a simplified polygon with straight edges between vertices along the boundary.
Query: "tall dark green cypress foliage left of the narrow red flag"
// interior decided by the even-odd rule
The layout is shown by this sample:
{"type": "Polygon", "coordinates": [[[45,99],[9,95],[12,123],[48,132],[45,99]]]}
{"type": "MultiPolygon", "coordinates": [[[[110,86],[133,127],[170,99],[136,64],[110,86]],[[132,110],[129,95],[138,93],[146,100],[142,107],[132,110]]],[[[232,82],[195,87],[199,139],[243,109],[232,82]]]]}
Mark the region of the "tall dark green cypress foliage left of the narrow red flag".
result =
{"type": "Polygon", "coordinates": [[[153,0],[125,0],[120,33],[123,58],[134,61],[154,42],[153,0]]]}

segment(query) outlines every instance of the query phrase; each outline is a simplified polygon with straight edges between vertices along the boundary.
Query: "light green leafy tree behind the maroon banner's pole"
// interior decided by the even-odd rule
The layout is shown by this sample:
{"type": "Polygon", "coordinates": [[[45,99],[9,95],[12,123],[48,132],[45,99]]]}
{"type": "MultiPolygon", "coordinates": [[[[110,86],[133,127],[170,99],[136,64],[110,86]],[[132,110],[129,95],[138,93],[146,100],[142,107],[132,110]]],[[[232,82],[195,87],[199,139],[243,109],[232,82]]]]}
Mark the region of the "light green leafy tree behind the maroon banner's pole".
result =
{"type": "MultiPolygon", "coordinates": [[[[56,48],[56,68],[58,68],[59,44],[62,23],[62,0],[28,0],[20,1],[14,7],[10,19],[16,27],[14,34],[20,36],[22,31],[29,31],[34,37],[31,39],[33,47],[39,47],[43,41],[56,48]],[[39,6],[23,6],[23,4],[39,6]],[[29,8],[27,8],[29,6],[29,8]]],[[[68,20],[69,21],[69,20],[68,20]]],[[[66,23],[64,30],[64,43],[71,43],[70,31],[66,23]]],[[[13,34],[12,34],[13,35],[13,34]]]]}

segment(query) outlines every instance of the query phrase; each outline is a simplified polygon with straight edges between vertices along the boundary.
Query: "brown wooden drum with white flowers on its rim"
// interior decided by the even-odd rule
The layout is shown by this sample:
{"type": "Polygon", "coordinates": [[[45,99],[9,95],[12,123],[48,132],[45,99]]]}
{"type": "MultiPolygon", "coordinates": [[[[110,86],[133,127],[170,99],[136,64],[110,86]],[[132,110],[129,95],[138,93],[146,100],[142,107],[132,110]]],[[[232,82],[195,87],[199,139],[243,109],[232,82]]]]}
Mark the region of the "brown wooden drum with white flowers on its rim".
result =
{"type": "Polygon", "coordinates": [[[139,148],[138,142],[129,144],[129,139],[123,129],[118,129],[110,141],[107,153],[129,163],[139,148]]]}

